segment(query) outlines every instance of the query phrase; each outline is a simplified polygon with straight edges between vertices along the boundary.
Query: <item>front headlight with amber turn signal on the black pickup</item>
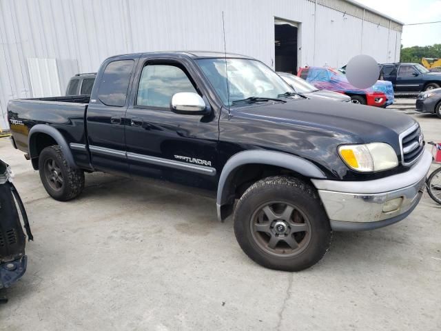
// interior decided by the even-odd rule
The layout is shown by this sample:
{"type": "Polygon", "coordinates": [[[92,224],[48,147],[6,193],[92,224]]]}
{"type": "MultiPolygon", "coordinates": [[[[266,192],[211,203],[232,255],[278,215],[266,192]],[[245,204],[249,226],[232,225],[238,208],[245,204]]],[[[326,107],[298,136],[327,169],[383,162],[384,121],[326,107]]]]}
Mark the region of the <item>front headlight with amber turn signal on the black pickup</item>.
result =
{"type": "Polygon", "coordinates": [[[360,172],[387,170],[398,165],[398,157],[387,143],[343,145],[338,148],[338,154],[349,168],[360,172]]]}

